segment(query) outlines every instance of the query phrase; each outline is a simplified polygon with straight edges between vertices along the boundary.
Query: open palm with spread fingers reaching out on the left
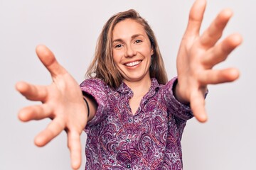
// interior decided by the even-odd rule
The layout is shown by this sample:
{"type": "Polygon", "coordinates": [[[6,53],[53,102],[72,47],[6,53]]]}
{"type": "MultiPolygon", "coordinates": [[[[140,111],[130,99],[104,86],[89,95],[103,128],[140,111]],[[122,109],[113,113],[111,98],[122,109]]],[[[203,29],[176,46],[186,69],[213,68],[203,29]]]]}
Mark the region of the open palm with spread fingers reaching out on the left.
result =
{"type": "Polygon", "coordinates": [[[73,169],[81,164],[80,134],[87,123],[87,108],[82,99],[80,86],[58,64],[50,50],[43,45],[36,47],[36,53],[51,74],[53,83],[49,86],[36,86],[25,82],[18,82],[16,89],[31,101],[41,101],[39,106],[22,108],[18,118],[24,122],[50,118],[48,127],[35,138],[38,147],[46,145],[50,140],[65,130],[68,134],[68,148],[70,149],[73,169]]]}

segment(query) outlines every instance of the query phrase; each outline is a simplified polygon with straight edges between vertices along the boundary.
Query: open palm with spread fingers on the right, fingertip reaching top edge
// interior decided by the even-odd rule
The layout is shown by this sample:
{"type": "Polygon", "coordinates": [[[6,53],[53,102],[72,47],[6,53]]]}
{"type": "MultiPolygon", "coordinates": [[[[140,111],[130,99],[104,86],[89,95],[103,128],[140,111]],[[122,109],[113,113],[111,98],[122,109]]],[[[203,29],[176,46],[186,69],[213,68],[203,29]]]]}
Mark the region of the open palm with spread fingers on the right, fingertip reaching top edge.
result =
{"type": "Polygon", "coordinates": [[[183,35],[177,57],[178,84],[176,98],[190,103],[193,115],[200,122],[207,120],[204,95],[208,84],[220,84],[238,79],[238,69],[214,70],[215,64],[223,62],[242,42],[239,34],[229,35],[221,42],[223,29],[233,15],[230,9],[220,11],[208,29],[199,35],[206,0],[196,0],[183,35]],[[218,43],[217,43],[218,42],[218,43]]]}

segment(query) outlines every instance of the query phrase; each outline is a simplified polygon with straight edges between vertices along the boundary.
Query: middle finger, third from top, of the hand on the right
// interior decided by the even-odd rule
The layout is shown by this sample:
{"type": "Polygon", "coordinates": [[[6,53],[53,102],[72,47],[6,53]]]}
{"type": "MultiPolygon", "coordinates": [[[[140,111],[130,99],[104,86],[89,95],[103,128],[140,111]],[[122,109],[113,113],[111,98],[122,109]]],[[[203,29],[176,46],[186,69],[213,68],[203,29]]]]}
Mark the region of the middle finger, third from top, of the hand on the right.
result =
{"type": "Polygon", "coordinates": [[[218,43],[218,45],[215,45],[215,47],[208,52],[206,57],[202,58],[205,68],[210,69],[215,66],[215,64],[226,60],[230,52],[235,50],[241,43],[242,36],[239,34],[233,34],[225,38],[222,42],[218,43]]]}

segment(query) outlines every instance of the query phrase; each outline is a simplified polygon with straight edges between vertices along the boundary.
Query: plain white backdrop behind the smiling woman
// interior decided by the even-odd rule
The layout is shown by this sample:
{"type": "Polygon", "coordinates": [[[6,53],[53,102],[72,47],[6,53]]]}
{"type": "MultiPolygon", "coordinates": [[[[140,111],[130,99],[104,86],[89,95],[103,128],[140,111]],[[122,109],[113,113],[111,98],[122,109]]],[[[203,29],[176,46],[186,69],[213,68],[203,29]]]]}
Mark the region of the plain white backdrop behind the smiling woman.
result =
{"type": "MultiPolygon", "coordinates": [[[[33,137],[50,120],[21,123],[18,110],[38,104],[26,101],[14,89],[17,81],[50,84],[50,74],[38,60],[35,47],[45,44],[80,83],[95,52],[97,37],[108,18],[136,9],[153,28],[169,79],[176,76],[176,53],[188,21],[192,0],[68,1],[0,0],[0,169],[70,169],[65,132],[46,147],[33,137]]],[[[183,132],[183,168],[186,170],[256,169],[256,1],[209,0],[202,30],[223,8],[234,16],[223,35],[241,33],[243,43],[215,69],[237,67],[240,79],[209,86],[209,120],[189,120],[183,132]]],[[[72,89],[70,89],[72,90],[72,89]]],[[[85,133],[81,141],[85,148],[85,133]]],[[[85,152],[82,152],[85,168],[85,152]]]]}

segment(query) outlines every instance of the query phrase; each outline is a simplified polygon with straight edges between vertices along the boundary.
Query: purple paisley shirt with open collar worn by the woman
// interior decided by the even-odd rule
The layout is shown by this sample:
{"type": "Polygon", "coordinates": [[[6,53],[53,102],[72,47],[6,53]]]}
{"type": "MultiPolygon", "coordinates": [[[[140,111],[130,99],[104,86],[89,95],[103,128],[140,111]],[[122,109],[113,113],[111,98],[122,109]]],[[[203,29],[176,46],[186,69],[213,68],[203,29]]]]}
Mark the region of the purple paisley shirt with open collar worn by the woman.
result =
{"type": "Polygon", "coordinates": [[[98,105],[85,128],[85,169],[182,169],[181,135],[193,115],[174,97],[175,81],[163,85],[151,79],[134,115],[133,92],[124,82],[112,89],[100,79],[83,81],[82,91],[98,105]]]}

